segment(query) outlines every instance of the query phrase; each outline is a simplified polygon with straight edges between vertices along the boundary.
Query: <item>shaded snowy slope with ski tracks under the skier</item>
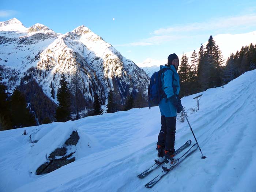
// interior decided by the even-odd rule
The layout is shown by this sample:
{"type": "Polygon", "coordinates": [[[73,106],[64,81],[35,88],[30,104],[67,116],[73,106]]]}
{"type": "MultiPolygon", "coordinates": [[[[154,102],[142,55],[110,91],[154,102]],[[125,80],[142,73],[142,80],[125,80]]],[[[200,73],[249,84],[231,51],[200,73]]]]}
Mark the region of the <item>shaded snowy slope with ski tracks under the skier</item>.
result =
{"type": "MultiPolygon", "coordinates": [[[[153,188],[144,187],[161,172],[144,179],[137,175],[153,164],[160,129],[158,107],[86,117],[0,132],[0,191],[256,191],[256,70],[246,72],[224,88],[202,92],[199,111],[189,121],[200,151],[182,162],[153,188]],[[26,129],[28,135],[22,135],[26,129]],[[45,154],[77,130],[76,161],[42,176],[35,170],[45,154]],[[33,140],[39,140],[32,146],[33,140]],[[89,145],[91,148],[87,146],[89,145]]],[[[186,110],[195,96],[182,98],[186,110]]],[[[177,123],[176,148],[195,143],[187,122],[177,123]]]]}

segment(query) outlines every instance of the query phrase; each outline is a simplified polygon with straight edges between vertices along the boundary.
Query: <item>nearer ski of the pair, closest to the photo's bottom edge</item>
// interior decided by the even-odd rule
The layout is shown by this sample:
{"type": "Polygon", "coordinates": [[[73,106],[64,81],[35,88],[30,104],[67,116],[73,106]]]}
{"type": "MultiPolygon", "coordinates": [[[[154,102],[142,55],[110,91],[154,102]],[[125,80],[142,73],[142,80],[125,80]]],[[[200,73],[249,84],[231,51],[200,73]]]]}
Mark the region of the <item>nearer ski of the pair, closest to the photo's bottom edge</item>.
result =
{"type": "Polygon", "coordinates": [[[160,173],[157,177],[155,177],[153,180],[148,182],[145,185],[145,187],[147,188],[153,187],[159,180],[161,180],[161,178],[163,178],[163,176],[165,176],[167,173],[169,173],[171,170],[177,167],[184,159],[186,159],[187,157],[189,157],[189,155],[195,152],[197,148],[198,148],[198,145],[196,143],[193,144],[193,146],[186,153],[184,153],[180,158],[177,158],[178,163],[175,166],[172,166],[168,171],[163,170],[162,173],[160,173]]]}

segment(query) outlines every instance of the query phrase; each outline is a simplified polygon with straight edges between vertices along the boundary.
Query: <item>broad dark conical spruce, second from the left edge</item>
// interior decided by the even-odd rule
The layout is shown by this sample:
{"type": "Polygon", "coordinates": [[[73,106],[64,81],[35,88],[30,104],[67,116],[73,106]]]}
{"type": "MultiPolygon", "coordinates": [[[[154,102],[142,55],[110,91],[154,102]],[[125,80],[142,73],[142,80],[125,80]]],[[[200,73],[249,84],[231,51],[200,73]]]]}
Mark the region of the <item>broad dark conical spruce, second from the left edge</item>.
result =
{"type": "Polygon", "coordinates": [[[12,128],[29,127],[36,125],[35,116],[27,107],[25,95],[15,89],[11,96],[11,123],[12,128]]]}

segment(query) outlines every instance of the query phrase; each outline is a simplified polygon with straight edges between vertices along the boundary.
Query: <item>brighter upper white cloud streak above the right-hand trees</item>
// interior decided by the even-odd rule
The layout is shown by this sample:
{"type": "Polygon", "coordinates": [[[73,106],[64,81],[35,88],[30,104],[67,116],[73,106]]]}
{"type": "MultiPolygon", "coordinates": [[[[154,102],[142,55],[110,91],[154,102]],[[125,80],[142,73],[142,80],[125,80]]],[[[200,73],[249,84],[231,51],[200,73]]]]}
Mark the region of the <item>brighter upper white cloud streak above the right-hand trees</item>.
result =
{"type": "Polygon", "coordinates": [[[256,26],[256,14],[242,15],[229,18],[216,18],[209,22],[191,23],[187,25],[180,25],[174,27],[167,27],[155,30],[155,35],[170,35],[178,32],[190,32],[190,31],[208,31],[227,29],[235,27],[253,27],[256,26]]]}

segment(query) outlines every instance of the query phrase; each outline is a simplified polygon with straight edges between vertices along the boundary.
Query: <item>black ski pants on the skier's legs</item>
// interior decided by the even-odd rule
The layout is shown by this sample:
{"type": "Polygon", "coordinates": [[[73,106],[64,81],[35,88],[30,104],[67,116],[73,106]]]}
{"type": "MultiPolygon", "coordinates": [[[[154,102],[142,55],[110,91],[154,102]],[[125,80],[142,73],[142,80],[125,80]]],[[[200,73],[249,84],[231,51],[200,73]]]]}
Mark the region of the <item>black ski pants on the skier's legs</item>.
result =
{"type": "Polygon", "coordinates": [[[176,117],[161,116],[161,130],[158,135],[157,145],[161,145],[164,150],[174,153],[174,142],[176,133],[176,117]]]}

